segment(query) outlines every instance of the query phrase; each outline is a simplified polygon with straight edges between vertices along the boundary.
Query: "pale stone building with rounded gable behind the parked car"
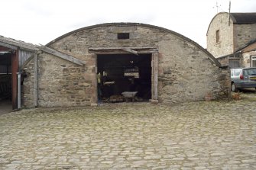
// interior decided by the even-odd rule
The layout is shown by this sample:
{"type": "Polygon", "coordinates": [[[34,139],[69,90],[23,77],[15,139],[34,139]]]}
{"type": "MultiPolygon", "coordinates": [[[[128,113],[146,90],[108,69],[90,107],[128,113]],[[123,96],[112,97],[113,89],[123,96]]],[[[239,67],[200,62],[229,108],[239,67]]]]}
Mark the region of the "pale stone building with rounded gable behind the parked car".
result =
{"type": "Polygon", "coordinates": [[[222,66],[256,66],[256,13],[216,14],[207,30],[207,50],[222,66]]]}

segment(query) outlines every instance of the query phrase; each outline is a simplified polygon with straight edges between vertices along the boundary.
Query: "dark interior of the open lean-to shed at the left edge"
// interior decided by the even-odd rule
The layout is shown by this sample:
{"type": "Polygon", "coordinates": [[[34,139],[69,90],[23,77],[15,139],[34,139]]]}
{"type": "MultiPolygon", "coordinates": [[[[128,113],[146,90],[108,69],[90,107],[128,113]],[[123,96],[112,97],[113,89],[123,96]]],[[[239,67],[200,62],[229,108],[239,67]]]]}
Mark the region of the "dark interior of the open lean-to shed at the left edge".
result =
{"type": "Polygon", "coordinates": [[[11,51],[0,49],[0,105],[11,104],[11,51]]]}

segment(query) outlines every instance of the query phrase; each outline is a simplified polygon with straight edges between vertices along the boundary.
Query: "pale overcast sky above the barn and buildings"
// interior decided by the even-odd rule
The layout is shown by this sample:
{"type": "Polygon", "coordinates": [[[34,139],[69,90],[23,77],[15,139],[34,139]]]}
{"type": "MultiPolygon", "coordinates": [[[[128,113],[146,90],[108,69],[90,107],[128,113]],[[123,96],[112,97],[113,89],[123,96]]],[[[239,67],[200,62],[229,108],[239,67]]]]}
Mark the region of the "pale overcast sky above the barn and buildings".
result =
{"type": "MultiPolygon", "coordinates": [[[[46,44],[80,27],[138,22],[176,31],[206,48],[206,31],[229,0],[4,0],[0,35],[46,44]],[[218,8],[216,7],[218,2],[218,8]]],[[[231,0],[231,12],[256,12],[256,0],[231,0]]]]}

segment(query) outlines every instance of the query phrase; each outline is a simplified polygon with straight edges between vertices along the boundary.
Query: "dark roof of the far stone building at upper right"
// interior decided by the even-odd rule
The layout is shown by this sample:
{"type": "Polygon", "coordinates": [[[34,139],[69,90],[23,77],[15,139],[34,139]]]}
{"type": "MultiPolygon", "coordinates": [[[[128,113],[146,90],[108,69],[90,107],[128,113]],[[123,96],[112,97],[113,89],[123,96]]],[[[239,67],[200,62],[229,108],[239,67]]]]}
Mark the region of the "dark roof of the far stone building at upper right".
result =
{"type": "Polygon", "coordinates": [[[256,12],[230,14],[234,24],[256,24],[256,12]]]}

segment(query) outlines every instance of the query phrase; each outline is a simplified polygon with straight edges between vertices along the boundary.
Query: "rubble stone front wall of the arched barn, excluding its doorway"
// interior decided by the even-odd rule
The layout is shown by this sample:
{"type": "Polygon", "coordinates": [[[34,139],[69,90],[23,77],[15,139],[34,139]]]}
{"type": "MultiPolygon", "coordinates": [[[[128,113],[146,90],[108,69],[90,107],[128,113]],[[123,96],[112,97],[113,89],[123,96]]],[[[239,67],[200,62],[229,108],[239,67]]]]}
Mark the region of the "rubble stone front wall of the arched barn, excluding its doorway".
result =
{"type": "MultiPolygon", "coordinates": [[[[132,24],[102,24],[73,31],[47,45],[86,62],[85,66],[41,52],[38,54],[39,107],[68,107],[96,104],[96,55],[89,47],[157,47],[158,100],[162,103],[203,101],[230,97],[230,72],[219,68],[198,44],[159,27],[132,24]],[[130,33],[118,40],[117,33],[130,33]]],[[[31,66],[29,64],[28,66],[31,66]]],[[[33,69],[24,83],[31,89],[33,69]]],[[[33,90],[26,91],[29,101],[33,90]]],[[[25,98],[25,101],[27,98],[25,98]]],[[[26,107],[33,107],[28,101],[26,107]]]]}

